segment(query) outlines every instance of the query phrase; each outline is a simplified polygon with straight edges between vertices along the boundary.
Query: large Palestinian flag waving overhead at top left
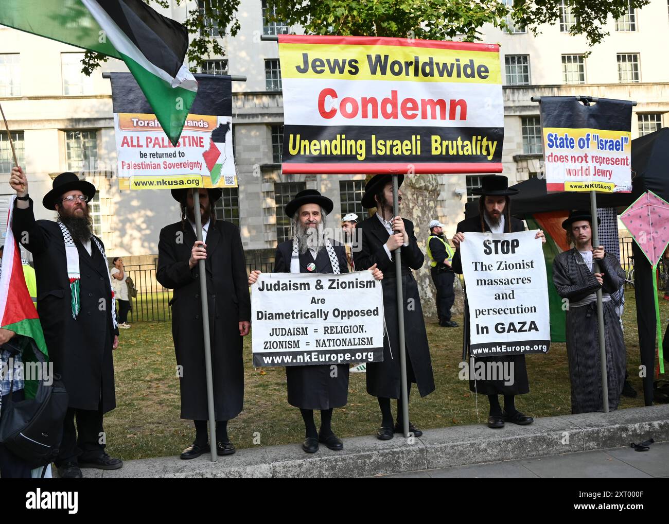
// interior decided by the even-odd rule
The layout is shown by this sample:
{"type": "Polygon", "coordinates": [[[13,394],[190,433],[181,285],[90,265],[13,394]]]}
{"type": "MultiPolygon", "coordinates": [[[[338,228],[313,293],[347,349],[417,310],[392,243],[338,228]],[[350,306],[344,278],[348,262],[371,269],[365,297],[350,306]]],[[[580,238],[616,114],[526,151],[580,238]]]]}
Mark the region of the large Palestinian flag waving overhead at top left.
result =
{"type": "Polygon", "coordinates": [[[1,0],[0,24],[123,60],[173,145],[197,82],[188,31],[141,0],[1,0]]]}

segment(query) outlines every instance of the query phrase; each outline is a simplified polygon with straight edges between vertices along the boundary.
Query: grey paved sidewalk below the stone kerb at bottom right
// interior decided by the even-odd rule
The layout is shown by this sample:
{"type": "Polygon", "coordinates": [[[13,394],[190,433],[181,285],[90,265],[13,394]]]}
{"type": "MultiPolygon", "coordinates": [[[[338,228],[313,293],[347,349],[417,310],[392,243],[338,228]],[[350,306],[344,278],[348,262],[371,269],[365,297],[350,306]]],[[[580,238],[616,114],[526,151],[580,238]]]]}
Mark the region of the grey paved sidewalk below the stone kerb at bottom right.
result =
{"type": "Polygon", "coordinates": [[[669,478],[669,442],[557,456],[412,471],[379,478],[669,478]]]}

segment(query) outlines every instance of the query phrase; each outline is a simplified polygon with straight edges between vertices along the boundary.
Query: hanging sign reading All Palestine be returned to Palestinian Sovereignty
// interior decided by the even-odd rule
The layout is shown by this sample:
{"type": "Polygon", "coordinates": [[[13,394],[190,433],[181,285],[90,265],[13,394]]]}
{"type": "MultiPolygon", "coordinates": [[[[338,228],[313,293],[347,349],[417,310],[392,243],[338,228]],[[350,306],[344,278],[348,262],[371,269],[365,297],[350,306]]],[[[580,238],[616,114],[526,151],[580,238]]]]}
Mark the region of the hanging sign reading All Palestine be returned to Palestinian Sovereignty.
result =
{"type": "Polygon", "coordinates": [[[237,187],[229,76],[195,75],[197,96],[176,147],[129,73],[112,73],[120,189],[237,187]]]}

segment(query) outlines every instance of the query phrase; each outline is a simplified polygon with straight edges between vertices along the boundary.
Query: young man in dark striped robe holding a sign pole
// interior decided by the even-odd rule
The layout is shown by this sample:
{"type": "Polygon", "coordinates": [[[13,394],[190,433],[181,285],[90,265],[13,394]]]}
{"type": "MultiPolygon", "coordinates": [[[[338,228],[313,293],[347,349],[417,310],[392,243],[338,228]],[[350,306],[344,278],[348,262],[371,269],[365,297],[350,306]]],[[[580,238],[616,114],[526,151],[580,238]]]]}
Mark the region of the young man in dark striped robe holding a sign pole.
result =
{"type": "Polygon", "coordinates": [[[571,412],[601,411],[601,364],[597,329],[597,296],[601,288],[606,342],[609,409],[618,407],[625,381],[626,349],[619,319],[611,300],[622,285],[625,272],[617,258],[603,246],[592,246],[592,217],[587,211],[572,211],[562,223],[567,242],[575,247],[553,261],[553,283],[567,298],[567,357],[571,381],[571,412]],[[599,272],[593,272],[593,263],[599,272]]]}

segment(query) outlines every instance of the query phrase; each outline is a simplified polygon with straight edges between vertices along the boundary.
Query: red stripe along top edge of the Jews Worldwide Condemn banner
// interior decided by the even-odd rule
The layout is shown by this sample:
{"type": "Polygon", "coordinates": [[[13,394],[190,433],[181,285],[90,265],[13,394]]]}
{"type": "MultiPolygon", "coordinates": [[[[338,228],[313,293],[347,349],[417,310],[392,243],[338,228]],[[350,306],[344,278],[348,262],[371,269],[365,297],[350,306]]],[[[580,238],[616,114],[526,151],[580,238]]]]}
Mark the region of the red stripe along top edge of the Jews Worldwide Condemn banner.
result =
{"type": "Polygon", "coordinates": [[[498,53],[496,43],[452,42],[441,40],[417,40],[375,36],[334,35],[279,35],[279,43],[322,43],[328,46],[399,46],[403,48],[453,49],[458,51],[486,51],[498,53]]]}

